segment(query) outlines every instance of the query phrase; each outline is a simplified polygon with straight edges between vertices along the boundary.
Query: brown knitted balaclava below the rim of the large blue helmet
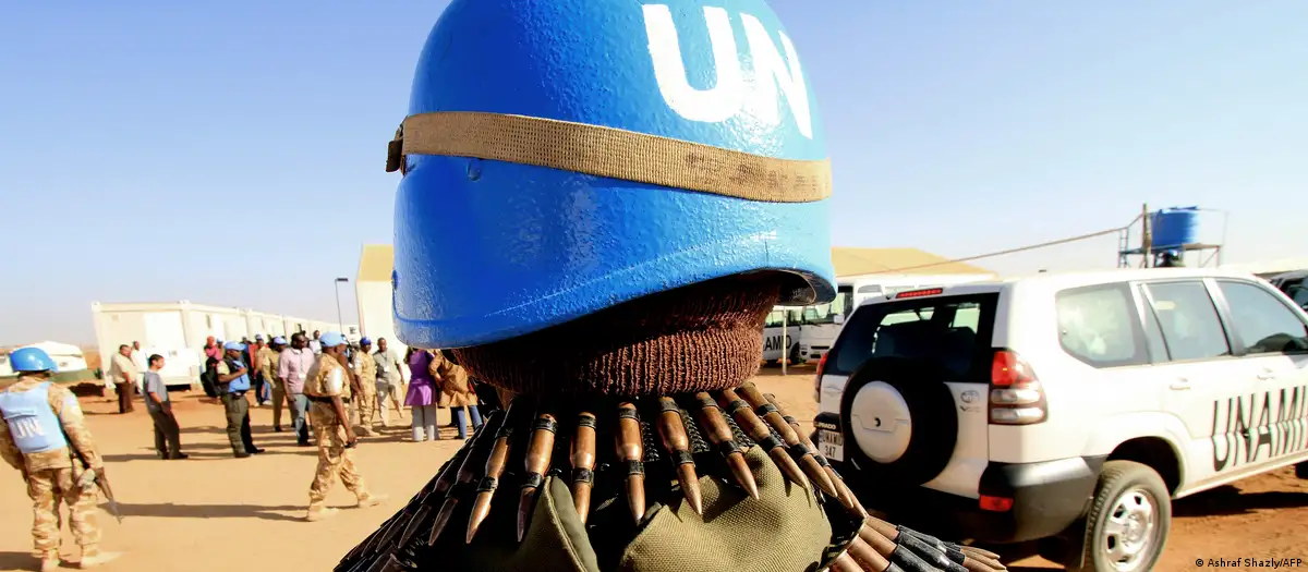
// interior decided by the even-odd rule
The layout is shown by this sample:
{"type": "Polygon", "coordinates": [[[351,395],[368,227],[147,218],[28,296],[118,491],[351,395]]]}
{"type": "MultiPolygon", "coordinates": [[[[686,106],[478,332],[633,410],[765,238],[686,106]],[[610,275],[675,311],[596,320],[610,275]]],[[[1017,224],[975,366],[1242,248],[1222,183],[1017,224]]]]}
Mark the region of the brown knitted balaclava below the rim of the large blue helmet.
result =
{"type": "Polygon", "coordinates": [[[712,279],[454,354],[479,380],[514,393],[729,389],[757,372],[763,321],[794,281],[765,272],[712,279]]]}

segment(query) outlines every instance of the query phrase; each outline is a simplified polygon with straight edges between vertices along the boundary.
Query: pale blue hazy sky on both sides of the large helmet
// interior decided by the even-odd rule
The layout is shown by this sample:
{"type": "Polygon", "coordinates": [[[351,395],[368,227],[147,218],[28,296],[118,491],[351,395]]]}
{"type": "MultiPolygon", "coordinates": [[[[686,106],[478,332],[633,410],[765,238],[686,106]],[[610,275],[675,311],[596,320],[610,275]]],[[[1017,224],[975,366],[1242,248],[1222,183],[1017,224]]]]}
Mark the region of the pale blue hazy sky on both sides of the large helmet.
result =
{"type": "MultiPolygon", "coordinates": [[[[391,240],[386,141],[445,4],[5,3],[0,345],[89,342],[93,300],[335,320],[332,278],[391,240]]],[[[959,257],[1147,201],[1230,210],[1228,261],[1308,255],[1308,3],[772,5],[823,110],[838,246],[959,257]]]]}

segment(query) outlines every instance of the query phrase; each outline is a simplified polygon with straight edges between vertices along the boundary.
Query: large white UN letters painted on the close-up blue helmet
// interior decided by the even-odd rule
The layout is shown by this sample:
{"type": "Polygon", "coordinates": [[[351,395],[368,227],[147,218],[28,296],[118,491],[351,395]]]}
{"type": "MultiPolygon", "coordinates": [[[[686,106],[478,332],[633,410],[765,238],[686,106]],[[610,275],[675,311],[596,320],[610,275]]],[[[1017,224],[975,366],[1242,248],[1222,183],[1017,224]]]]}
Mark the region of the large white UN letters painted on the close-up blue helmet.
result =
{"type": "Polygon", "coordinates": [[[753,60],[753,73],[742,69],[736,52],[736,38],[731,30],[727,10],[704,7],[704,20],[713,44],[713,68],[717,81],[713,87],[695,89],[685,73],[681,42],[678,38],[672,12],[664,4],[645,4],[645,33],[649,35],[650,57],[659,93],[672,111],[692,121],[726,121],[742,112],[766,125],[781,123],[778,87],[790,106],[797,128],[812,138],[812,115],[808,111],[808,86],[799,68],[799,55],[785,33],[777,31],[785,57],[777,51],[768,29],[759,18],[742,13],[746,42],[753,60]]]}

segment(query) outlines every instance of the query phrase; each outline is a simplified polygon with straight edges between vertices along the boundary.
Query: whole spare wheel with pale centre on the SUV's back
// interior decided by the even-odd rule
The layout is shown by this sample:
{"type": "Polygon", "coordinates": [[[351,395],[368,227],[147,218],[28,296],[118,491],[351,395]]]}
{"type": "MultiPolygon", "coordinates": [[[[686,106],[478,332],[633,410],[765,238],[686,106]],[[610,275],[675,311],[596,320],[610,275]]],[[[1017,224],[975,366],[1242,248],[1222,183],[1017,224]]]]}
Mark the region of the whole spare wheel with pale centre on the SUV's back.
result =
{"type": "Polygon", "coordinates": [[[944,371],[929,360],[874,358],[845,384],[845,456],[869,477],[917,486],[944,470],[959,417],[944,371]]]}

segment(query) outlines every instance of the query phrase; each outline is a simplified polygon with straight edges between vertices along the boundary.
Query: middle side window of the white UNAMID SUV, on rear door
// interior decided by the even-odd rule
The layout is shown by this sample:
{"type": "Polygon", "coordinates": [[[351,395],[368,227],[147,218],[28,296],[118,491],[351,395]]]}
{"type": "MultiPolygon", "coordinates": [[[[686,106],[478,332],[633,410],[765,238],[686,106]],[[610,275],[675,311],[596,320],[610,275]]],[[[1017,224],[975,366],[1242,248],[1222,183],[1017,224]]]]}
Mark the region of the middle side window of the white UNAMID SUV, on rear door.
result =
{"type": "Polygon", "coordinates": [[[1226,330],[1203,282],[1144,285],[1173,362],[1231,355],[1226,330]]]}

